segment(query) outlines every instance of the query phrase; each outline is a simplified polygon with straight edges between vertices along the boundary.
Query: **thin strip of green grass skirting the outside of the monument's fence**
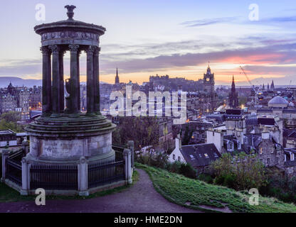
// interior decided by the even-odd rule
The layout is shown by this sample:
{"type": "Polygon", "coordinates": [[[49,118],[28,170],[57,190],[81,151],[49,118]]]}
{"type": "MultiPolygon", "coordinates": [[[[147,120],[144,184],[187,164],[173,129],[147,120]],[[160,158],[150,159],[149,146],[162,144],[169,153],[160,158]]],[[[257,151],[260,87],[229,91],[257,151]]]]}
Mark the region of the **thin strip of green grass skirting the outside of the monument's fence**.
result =
{"type": "MultiPolygon", "coordinates": [[[[114,189],[108,189],[102,192],[96,192],[89,196],[46,196],[46,199],[92,199],[95,197],[106,196],[108,194],[115,194],[122,192],[125,189],[131,187],[139,179],[139,173],[134,171],[132,175],[132,184],[116,187],[114,189]]],[[[11,202],[11,201],[35,201],[36,196],[21,196],[19,192],[8,187],[6,184],[0,182],[0,202],[11,202]]]]}

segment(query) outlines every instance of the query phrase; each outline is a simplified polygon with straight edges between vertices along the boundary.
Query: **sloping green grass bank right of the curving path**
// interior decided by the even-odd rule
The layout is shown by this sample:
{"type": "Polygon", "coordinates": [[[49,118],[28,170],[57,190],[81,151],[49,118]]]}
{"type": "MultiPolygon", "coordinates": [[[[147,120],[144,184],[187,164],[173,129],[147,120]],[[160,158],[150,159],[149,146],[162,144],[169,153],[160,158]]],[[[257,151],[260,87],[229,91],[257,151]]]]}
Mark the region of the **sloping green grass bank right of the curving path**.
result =
{"type": "Polygon", "coordinates": [[[259,205],[251,206],[248,204],[250,195],[246,191],[236,192],[227,187],[207,184],[197,179],[189,179],[182,175],[139,163],[136,164],[136,167],[145,170],[149,174],[154,188],[166,199],[191,209],[213,211],[209,209],[225,208],[227,206],[233,212],[296,212],[294,204],[285,204],[274,198],[260,196],[259,205]],[[189,203],[190,205],[188,205],[189,203]],[[206,210],[199,207],[200,205],[205,205],[206,210]]]}

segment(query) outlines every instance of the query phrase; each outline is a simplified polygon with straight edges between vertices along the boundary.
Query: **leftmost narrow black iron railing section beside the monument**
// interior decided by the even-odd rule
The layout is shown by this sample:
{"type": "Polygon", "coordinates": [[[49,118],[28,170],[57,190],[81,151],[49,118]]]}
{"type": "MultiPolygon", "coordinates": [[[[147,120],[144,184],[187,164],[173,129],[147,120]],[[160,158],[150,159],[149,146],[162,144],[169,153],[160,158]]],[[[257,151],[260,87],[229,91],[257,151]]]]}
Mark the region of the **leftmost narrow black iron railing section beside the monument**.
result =
{"type": "Polygon", "coordinates": [[[21,186],[21,162],[10,157],[6,159],[6,178],[21,186]]]}

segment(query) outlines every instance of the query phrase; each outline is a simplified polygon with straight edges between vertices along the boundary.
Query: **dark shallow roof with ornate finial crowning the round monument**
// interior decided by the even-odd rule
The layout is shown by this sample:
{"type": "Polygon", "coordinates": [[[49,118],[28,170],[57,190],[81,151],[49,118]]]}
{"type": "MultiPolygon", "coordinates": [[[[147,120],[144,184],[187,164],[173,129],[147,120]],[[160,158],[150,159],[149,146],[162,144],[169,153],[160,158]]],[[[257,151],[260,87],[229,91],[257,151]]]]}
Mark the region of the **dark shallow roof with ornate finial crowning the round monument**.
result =
{"type": "Polygon", "coordinates": [[[45,32],[51,32],[51,31],[63,31],[65,29],[73,29],[73,30],[85,30],[85,31],[93,31],[96,33],[103,34],[106,31],[106,28],[102,26],[95,25],[93,23],[85,23],[83,21],[75,21],[73,19],[74,12],[73,10],[76,8],[76,6],[65,6],[65,9],[68,10],[67,20],[63,21],[56,21],[53,23],[43,23],[41,25],[35,26],[34,30],[38,34],[42,34],[45,32]]]}

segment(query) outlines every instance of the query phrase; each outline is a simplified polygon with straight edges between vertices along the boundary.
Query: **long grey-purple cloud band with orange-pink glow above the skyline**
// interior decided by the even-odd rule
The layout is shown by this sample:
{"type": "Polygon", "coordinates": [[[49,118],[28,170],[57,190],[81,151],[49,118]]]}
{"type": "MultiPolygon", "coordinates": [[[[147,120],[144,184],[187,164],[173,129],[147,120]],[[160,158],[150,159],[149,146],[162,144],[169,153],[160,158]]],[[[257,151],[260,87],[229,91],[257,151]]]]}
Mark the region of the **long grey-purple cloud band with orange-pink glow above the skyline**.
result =
{"type": "MultiPolygon", "coordinates": [[[[265,45],[260,48],[241,48],[205,53],[186,53],[173,55],[159,55],[146,59],[127,59],[117,61],[117,67],[122,72],[149,72],[171,67],[186,67],[211,62],[224,62],[242,65],[290,64],[296,63],[296,43],[280,43],[265,45]]],[[[102,60],[101,67],[105,74],[114,71],[114,62],[102,60]],[[110,71],[111,70],[111,71],[110,71]]]]}

